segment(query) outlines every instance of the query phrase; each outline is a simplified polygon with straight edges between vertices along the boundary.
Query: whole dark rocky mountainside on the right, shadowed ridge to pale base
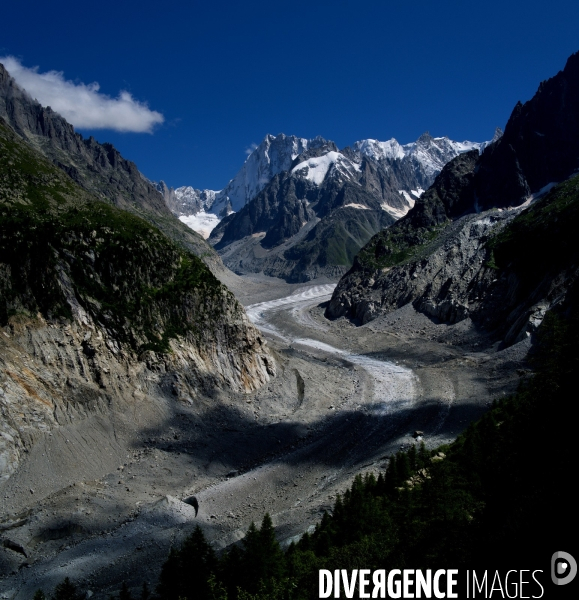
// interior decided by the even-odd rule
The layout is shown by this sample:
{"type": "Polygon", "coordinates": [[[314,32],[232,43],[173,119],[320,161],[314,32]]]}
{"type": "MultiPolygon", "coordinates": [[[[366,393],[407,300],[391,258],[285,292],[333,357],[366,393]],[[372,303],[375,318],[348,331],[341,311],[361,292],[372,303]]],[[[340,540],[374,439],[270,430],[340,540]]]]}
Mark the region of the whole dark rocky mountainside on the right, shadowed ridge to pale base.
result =
{"type": "Polygon", "coordinates": [[[579,168],[578,69],[575,54],[517,105],[480,157],[446,165],[415,207],[360,251],[327,316],[366,323],[412,303],[443,322],[472,318],[506,345],[531,334],[577,277],[577,178],[553,182],[579,168]]]}

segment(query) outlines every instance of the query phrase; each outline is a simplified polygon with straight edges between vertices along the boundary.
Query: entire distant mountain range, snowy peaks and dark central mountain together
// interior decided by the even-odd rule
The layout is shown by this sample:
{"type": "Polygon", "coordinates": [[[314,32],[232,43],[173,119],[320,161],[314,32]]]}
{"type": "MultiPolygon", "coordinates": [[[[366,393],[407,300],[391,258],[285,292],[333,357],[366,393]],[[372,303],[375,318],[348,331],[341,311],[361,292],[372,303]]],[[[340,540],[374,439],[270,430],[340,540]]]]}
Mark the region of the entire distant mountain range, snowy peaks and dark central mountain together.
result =
{"type": "Polygon", "coordinates": [[[336,278],[373,234],[414,206],[449,160],[488,143],[425,133],[410,144],[367,139],[340,151],[322,137],[268,135],[221,191],[157,187],[173,214],[210,232],[234,272],[336,278]]]}

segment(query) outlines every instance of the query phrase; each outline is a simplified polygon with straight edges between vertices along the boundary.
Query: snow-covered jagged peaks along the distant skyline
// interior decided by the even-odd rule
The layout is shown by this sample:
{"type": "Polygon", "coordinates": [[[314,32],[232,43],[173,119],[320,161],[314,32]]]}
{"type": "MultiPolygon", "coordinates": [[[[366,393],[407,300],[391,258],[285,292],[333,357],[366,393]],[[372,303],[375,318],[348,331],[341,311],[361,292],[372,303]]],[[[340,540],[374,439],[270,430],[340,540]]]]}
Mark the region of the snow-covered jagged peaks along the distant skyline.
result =
{"type": "Polygon", "coordinates": [[[399,218],[413,206],[421,191],[432,184],[446,163],[469,150],[481,152],[488,143],[455,142],[426,132],[409,144],[400,144],[394,138],[384,142],[364,139],[339,151],[333,142],[320,136],[306,139],[283,133],[268,134],[220,192],[189,186],[159,189],[174,214],[195,216],[189,224],[202,230],[203,235],[220,218],[241,210],[276,175],[285,171],[318,187],[330,180],[355,183],[399,218]],[[208,213],[215,215],[215,219],[208,213]]]}

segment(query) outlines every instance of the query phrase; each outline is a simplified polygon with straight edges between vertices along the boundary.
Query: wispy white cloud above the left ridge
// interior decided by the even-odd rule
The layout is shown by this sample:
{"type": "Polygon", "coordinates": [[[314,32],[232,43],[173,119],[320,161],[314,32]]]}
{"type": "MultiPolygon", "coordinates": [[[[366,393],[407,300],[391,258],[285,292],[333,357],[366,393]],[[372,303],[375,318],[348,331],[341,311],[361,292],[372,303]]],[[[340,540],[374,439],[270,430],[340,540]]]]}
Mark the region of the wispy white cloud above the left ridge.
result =
{"type": "Polygon", "coordinates": [[[114,129],[115,131],[151,133],[165,118],[145,103],[121,91],[118,98],[99,93],[99,84],[74,83],[62,71],[39,73],[29,69],[13,56],[0,57],[16,83],[43,106],[62,115],[80,129],[114,129]]]}

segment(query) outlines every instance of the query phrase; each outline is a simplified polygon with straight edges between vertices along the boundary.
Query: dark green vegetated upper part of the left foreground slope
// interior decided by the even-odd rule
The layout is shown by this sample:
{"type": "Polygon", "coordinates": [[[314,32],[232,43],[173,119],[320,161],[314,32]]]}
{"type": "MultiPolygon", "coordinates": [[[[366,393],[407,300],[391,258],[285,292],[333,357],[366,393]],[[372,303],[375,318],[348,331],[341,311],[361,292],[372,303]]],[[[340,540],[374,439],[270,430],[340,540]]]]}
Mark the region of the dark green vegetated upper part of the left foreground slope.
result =
{"type": "Polygon", "coordinates": [[[0,123],[0,323],[79,304],[133,350],[203,334],[224,288],[193,254],[95,200],[0,123]]]}

